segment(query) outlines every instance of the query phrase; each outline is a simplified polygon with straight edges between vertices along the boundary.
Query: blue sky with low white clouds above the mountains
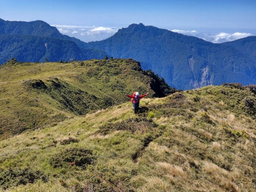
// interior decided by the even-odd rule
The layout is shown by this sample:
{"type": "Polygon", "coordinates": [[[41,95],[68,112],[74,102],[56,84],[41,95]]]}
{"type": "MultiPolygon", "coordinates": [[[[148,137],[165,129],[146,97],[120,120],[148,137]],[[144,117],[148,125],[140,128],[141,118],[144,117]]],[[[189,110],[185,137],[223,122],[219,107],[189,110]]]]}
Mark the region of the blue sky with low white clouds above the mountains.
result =
{"type": "Polygon", "coordinates": [[[0,18],[44,20],[83,41],[143,23],[218,43],[256,35],[256,0],[0,0],[0,18]]]}

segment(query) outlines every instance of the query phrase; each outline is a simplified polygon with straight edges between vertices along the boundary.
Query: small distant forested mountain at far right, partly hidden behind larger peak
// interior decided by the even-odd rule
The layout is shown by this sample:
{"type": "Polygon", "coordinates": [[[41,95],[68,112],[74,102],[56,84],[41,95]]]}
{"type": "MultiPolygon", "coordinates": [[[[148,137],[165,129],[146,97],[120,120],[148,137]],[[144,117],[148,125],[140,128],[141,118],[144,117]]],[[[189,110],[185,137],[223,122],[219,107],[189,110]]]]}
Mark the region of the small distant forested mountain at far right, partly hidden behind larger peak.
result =
{"type": "Polygon", "coordinates": [[[238,51],[245,53],[256,62],[256,36],[225,42],[222,45],[235,47],[238,51]]]}

